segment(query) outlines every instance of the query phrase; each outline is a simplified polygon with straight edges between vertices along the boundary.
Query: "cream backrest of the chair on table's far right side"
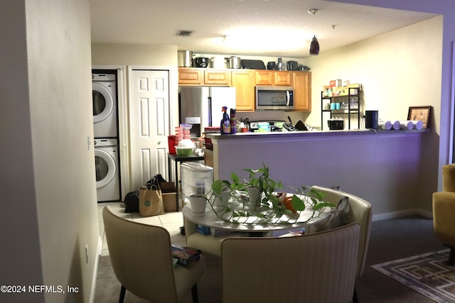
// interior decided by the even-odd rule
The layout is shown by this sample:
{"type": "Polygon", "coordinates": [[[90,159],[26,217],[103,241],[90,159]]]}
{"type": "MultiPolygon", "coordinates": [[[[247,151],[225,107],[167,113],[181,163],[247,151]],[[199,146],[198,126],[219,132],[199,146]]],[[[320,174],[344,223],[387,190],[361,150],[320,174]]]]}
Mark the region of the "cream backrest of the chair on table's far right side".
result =
{"type": "Polygon", "coordinates": [[[360,242],[358,246],[358,265],[357,276],[363,274],[365,268],[365,260],[367,258],[368,243],[370,241],[370,229],[372,220],[371,204],[364,199],[341,192],[340,190],[331,189],[328,187],[313,186],[316,191],[324,194],[323,199],[333,204],[337,204],[343,197],[349,197],[350,206],[350,222],[357,222],[360,225],[360,242]]]}

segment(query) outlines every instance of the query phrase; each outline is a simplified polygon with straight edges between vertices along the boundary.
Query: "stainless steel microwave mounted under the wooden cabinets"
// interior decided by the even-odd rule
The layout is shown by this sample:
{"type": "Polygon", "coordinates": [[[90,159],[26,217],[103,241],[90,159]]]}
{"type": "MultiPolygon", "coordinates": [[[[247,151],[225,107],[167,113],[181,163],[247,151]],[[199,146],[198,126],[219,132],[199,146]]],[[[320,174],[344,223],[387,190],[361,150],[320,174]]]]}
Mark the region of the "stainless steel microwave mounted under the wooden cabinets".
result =
{"type": "Polygon", "coordinates": [[[256,87],[256,110],[294,109],[294,87],[256,87]]]}

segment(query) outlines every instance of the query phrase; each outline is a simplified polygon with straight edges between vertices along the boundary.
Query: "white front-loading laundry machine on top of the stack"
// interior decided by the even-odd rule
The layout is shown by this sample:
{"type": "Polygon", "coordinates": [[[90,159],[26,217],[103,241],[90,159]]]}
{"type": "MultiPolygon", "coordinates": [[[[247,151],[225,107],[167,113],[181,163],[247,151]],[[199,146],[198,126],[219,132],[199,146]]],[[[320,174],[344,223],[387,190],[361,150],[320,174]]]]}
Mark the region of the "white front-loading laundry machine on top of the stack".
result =
{"type": "Polygon", "coordinates": [[[92,74],[95,138],[117,137],[117,81],[114,74],[92,74]]]}

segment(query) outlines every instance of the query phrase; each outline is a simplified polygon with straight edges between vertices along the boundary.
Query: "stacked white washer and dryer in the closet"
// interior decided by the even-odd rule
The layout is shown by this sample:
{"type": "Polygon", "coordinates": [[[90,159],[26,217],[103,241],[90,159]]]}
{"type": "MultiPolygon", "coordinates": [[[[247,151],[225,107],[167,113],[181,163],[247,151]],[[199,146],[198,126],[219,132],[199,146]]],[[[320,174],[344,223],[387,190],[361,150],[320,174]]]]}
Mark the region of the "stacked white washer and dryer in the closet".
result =
{"type": "Polygon", "coordinates": [[[92,70],[97,201],[120,200],[117,71],[92,70]]]}

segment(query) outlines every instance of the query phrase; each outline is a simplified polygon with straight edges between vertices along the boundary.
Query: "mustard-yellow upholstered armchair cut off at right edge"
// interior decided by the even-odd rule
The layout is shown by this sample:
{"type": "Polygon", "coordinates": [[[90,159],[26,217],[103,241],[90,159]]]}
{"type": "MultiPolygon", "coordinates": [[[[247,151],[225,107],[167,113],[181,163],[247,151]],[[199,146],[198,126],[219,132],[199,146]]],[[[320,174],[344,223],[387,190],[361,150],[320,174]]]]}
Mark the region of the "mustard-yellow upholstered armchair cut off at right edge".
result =
{"type": "Polygon", "coordinates": [[[450,248],[449,265],[455,263],[455,164],[442,167],[442,192],[433,193],[433,229],[450,248]]]}

